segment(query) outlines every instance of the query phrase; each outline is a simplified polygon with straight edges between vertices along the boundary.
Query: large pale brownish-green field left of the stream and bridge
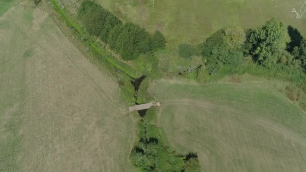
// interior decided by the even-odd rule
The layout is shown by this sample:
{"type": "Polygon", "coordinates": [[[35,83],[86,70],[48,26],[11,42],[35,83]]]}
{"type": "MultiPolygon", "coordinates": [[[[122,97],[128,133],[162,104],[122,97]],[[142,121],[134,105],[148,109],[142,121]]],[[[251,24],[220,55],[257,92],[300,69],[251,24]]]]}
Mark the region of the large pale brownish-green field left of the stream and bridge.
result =
{"type": "Polygon", "coordinates": [[[31,4],[0,18],[0,171],[133,171],[118,85],[31,4]]]}

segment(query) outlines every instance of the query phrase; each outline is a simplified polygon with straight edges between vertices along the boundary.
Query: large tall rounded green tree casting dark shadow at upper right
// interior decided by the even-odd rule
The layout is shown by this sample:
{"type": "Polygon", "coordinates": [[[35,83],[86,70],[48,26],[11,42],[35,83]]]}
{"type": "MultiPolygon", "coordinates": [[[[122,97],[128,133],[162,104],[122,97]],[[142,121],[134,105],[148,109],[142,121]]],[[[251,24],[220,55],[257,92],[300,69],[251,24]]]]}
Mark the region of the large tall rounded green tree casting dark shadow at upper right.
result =
{"type": "Polygon", "coordinates": [[[265,25],[248,32],[246,47],[260,64],[271,67],[286,46],[286,26],[272,18],[265,25]]]}

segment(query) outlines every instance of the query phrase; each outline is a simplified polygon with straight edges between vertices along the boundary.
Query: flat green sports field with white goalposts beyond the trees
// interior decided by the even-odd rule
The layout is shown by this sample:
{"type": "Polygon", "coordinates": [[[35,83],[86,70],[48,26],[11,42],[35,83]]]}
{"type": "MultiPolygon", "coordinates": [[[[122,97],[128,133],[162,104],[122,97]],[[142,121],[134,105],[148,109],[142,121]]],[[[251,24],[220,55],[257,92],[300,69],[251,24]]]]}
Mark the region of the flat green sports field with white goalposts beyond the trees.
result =
{"type": "MultiPolygon", "coordinates": [[[[69,1],[69,0],[64,0],[69,1]]],[[[72,1],[72,0],[70,0],[72,1]]],[[[125,21],[148,29],[162,31],[168,46],[182,42],[199,43],[215,31],[230,27],[256,28],[273,16],[301,32],[306,19],[295,19],[292,8],[299,9],[302,0],[155,0],[155,7],[143,6],[152,0],[98,0],[125,21]]]]}

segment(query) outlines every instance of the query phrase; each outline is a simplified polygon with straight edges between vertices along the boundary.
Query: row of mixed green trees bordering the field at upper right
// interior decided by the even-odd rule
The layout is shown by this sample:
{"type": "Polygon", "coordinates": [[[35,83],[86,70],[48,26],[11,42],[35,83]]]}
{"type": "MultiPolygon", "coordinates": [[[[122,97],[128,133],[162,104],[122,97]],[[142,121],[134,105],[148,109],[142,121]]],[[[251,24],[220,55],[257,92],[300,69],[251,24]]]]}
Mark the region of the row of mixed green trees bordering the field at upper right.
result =
{"type": "Polygon", "coordinates": [[[251,61],[269,69],[306,70],[306,40],[276,18],[257,29],[221,29],[199,45],[179,45],[178,53],[184,58],[200,55],[215,68],[237,68],[251,61]]]}

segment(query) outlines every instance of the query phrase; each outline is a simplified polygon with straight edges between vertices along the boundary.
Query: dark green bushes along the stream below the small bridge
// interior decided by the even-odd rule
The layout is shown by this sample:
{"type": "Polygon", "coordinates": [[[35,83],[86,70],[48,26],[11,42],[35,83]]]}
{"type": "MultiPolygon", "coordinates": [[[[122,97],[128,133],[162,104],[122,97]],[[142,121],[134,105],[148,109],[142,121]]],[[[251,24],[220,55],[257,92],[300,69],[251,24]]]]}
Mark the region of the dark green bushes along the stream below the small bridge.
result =
{"type": "Polygon", "coordinates": [[[140,138],[131,152],[131,160],[142,171],[201,171],[195,153],[179,155],[165,145],[156,126],[154,109],[146,111],[138,123],[140,138]]]}

